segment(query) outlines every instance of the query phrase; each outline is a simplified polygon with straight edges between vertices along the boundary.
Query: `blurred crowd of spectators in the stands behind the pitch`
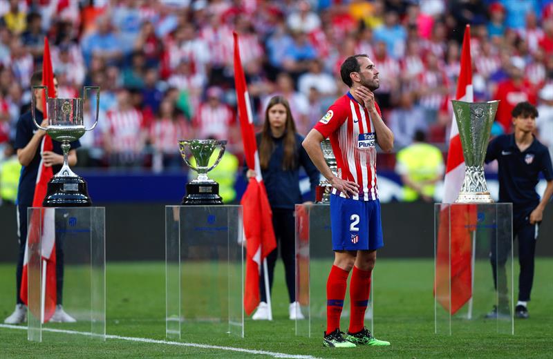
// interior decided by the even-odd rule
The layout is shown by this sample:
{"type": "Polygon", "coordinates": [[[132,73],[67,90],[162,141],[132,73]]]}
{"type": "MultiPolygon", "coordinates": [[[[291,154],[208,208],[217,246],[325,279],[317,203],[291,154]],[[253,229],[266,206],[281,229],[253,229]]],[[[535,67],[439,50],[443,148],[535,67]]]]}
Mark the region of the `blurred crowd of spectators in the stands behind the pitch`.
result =
{"type": "MultiPolygon", "coordinates": [[[[257,126],[278,94],[305,135],[347,91],[341,62],[371,57],[395,134],[395,153],[379,154],[379,168],[403,175],[396,155],[413,142],[447,151],[467,23],[475,101],[501,100],[492,135],[509,133],[510,110],[530,101],[539,105],[536,135],[553,148],[552,0],[1,0],[0,158],[12,155],[46,36],[58,97],[102,88],[79,166],[182,171],[177,140],[208,137],[227,139],[241,162],[235,30],[257,126]]],[[[88,124],[93,113],[87,102],[88,124]]],[[[429,171],[441,177],[435,162],[429,171]]]]}

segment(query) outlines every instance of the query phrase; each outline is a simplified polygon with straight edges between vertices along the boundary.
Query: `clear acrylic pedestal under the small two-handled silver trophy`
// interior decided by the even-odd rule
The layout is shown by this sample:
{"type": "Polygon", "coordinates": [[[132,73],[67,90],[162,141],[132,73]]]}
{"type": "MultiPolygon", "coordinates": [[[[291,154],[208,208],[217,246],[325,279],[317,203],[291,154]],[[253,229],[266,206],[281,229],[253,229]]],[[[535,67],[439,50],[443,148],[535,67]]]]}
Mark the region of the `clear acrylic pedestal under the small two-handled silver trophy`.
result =
{"type": "Polygon", "coordinates": [[[166,336],[244,336],[242,206],[165,206],[166,336]]]}

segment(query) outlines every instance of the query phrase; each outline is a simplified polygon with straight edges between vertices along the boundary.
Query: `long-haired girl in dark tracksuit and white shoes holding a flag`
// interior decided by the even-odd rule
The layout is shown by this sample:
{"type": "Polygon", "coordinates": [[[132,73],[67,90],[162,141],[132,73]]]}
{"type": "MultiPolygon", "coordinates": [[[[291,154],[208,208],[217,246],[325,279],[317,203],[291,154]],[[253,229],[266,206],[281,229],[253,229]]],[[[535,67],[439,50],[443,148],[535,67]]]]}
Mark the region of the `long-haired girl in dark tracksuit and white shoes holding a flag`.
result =
{"type": "MultiPolygon", "coordinates": [[[[303,319],[299,303],[296,302],[294,208],[296,204],[302,202],[299,167],[302,166],[309,176],[311,200],[315,197],[315,186],[319,184],[319,171],[301,146],[303,137],[297,133],[288,100],[282,96],[274,96],[270,99],[265,110],[263,129],[256,135],[256,142],[259,148],[261,175],[272,210],[274,235],[277,237],[277,249],[267,256],[269,288],[272,288],[274,264],[277,262],[280,248],[290,300],[289,318],[303,319]]],[[[256,173],[248,170],[246,175],[249,179],[255,177],[256,173]]],[[[267,304],[263,275],[260,275],[259,286],[261,302],[252,319],[268,320],[270,309],[267,304]]]]}

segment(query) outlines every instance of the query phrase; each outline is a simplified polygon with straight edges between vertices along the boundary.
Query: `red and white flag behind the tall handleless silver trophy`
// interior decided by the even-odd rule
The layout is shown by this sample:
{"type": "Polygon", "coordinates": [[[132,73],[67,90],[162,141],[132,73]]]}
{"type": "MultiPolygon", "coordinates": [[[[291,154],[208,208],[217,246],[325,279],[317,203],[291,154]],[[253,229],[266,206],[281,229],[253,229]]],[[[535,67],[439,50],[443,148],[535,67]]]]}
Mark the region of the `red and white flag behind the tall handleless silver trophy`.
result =
{"type": "MultiPolygon", "coordinates": [[[[462,41],[461,68],[456,93],[456,99],[467,102],[474,101],[470,41],[470,26],[467,25],[462,41]]],[[[442,307],[451,314],[456,313],[472,296],[471,233],[467,229],[469,226],[465,226],[465,224],[467,221],[471,221],[471,217],[474,217],[476,213],[473,213],[474,208],[471,208],[470,205],[449,206],[457,199],[464,179],[465,159],[462,155],[457,122],[453,115],[435,264],[435,295],[442,307]],[[449,213],[450,211],[451,213],[449,213]],[[449,220],[451,220],[451,224],[449,220]],[[451,238],[451,246],[448,238],[451,238]]]]}

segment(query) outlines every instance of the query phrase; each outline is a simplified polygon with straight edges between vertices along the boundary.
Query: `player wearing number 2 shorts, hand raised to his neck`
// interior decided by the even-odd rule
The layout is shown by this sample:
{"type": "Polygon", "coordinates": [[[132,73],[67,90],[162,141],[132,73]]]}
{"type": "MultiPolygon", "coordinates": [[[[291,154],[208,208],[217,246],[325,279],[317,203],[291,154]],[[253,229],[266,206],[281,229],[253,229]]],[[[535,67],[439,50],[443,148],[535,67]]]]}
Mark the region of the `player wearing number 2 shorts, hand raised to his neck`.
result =
{"type": "Polygon", "coordinates": [[[364,315],[371,291],[371,272],[376,251],[384,245],[380,202],[376,185],[376,147],[393,148],[393,133],[384,124],[373,91],[379,87],[378,70],[367,55],[348,57],[340,75],[350,90],[335,101],[306,139],[312,162],[332,184],[330,226],[334,264],[326,283],[326,347],[390,345],[377,340],[364,327],[364,315]],[[321,142],[330,137],[339,176],[328,168],[321,142]],[[350,282],[350,327],[346,337],[340,331],[340,315],[350,282]]]}

